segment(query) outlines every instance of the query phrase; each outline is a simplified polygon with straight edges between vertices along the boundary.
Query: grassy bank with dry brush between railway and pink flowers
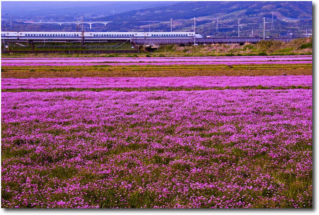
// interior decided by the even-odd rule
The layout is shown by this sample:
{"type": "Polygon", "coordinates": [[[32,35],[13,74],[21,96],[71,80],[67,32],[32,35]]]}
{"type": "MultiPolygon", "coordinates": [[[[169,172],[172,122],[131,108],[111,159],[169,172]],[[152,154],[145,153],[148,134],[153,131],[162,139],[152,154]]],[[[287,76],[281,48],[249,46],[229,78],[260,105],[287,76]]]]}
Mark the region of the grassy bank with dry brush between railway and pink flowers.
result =
{"type": "MultiPolygon", "coordinates": [[[[64,46],[65,44],[63,44],[64,46]]],[[[108,44],[111,45],[111,44],[108,44]]],[[[129,45],[129,44],[128,44],[129,45]]],[[[55,44],[57,47],[58,45],[55,44]]],[[[92,50],[115,50],[116,47],[103,47],[101,44],[88,44],[92,50]],[[91,46],[91,47],[90,47],[91,46]],[[95,47],[97,46],[97,47],[95,47]]],[[[41,47],[43,49],[43,47],[41,47]]],[[[123,48],[123,47],[121,47],[123,48]]],[[[130,46],[125,48],[131,48],[130,46]]],[[[46,50],[48,50],[46,48],[46,50]]],[[[158,50],[139,48],[140,54],[1,54],[3,57],[20,56],[63,56],[63,57],[170,57],[170,56],[265,56],[265,55],[310,55],[312,54],[312,37],[295,39],[284,43],[277,40],[260,41],[257,44],[207,44],[199,46],[162,45],[158,50]]]]}

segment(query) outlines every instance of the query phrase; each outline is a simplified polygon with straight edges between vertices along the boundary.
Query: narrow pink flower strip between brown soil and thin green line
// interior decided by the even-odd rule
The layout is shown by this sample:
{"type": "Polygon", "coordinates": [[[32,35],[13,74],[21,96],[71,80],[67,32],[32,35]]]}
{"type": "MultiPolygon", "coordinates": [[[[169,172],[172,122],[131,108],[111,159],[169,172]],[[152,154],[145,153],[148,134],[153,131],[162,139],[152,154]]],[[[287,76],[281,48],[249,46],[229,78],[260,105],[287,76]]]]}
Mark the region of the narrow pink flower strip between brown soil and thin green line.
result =
{"type": "Polygon", "coordinates": [[[84,78],[4,78],[8,89],[101,89],[101,88],[213,88],[213,87],[312,87],[312,75],[289,76],[193,76],[193,77],[84,77],[84,78]]]}

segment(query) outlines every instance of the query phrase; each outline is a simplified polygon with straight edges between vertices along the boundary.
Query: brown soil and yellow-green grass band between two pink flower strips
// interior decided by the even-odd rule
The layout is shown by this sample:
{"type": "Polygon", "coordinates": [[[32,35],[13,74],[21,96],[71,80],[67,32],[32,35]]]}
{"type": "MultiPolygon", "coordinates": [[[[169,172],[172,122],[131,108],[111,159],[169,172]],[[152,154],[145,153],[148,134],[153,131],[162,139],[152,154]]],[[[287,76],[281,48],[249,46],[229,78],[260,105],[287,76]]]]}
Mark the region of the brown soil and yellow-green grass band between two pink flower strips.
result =
{"type": "Polygon", "coordinates": [[[312,75],[312,65],[2,67],[1,78],[312,75]]]}

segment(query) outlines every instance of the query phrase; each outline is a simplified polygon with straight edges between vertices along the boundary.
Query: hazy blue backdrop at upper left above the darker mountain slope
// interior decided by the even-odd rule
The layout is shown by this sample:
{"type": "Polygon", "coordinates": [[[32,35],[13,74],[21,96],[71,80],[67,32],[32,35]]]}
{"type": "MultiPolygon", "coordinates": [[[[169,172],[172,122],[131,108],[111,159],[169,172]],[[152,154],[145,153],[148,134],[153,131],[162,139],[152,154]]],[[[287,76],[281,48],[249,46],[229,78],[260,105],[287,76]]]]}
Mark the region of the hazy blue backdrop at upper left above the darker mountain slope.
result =
{"type": "MultiPolygon", "coordinates": [[[[1,2],[2,17],[13,16],[14,18],[41,18],[51,17],[57,18],[59,16],[80,16],[83,14],[99,14],[107,16],[115,13],[122,13],[131,10],[151,8],[159,5],[171,4],[170,2],[53,2],[53,1],[40,1],[40,2],[1,2]]],[[[43,18],[42,18],[43,19],[43,18]]],[[[71,21],[71,20],[65,20],[71,21]]]]}

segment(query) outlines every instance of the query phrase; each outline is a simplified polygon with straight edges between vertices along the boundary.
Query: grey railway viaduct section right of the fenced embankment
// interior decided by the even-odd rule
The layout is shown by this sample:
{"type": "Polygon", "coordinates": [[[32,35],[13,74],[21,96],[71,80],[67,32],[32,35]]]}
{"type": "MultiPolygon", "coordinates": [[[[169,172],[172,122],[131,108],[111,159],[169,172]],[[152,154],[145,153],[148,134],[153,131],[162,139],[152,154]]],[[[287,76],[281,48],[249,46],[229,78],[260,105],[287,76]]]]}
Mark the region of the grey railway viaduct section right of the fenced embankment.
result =
{"type": "MultiPolygon", "coordinates": [[[[283,42],[289,42],[293,39],[299,39],[296,37],[290,38],[265,38],[265,40],[279,40],[283,42]]],[[[258,43],[259,41],[263,40],[263,38],[196,38],[196,44],[229,44],[229,43],[237,43],[237,44],[244,44],[244,43],[258,43]]],[[[188,45],[194,44],[194,39],[132,39],[136,45],[188,45]]]]}

